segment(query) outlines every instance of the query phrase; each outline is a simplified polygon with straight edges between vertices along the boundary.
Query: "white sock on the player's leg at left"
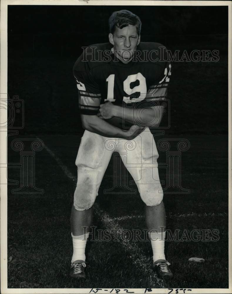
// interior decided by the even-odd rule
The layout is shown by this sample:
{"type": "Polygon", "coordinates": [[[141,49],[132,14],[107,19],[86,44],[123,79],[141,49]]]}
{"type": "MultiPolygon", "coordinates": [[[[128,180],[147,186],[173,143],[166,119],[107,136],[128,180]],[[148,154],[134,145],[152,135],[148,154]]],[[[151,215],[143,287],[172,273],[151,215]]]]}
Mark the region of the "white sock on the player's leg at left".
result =
{"type": "Polygon", "coordinates": [[[80,236],[73,236],[72,233],[71,235],[73,238],[73,257],[71,262],[74,262],[76,260],[85,261],[85,246],[89,237],[89,233],[80,236]]]}

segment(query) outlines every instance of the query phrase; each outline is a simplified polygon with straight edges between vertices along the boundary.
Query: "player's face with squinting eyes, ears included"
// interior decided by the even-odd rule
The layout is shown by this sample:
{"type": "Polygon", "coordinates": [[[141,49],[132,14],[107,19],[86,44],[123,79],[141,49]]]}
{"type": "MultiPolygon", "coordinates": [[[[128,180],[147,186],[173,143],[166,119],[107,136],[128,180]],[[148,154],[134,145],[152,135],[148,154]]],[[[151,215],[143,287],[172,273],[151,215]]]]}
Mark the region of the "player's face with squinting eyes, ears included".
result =
{"type": "Polygon", "coordinates": [[[117,57],[123,63],[128,63],[139,45],[140,36],[138,36],[136,26],[129,24],[122,29],[116,26],[114,34],[109,34],[109,40],[114,45],[117,57]]]}

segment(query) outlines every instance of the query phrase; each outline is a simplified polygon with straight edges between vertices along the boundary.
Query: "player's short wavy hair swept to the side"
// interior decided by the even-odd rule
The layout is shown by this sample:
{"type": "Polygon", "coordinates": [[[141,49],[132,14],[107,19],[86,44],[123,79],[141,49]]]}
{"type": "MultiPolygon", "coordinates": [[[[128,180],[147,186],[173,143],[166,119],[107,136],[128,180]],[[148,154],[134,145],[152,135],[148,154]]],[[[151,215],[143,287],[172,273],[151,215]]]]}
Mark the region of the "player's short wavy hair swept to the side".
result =
{"type": "Polygon", "coordinates": [[[140,35],[142,22],[140,18],[129,10],[114,11],[109,18],[110,33],[113,34],[116,26],[120,29],[131,24],[136,26],[137,33],[140,35]]]}

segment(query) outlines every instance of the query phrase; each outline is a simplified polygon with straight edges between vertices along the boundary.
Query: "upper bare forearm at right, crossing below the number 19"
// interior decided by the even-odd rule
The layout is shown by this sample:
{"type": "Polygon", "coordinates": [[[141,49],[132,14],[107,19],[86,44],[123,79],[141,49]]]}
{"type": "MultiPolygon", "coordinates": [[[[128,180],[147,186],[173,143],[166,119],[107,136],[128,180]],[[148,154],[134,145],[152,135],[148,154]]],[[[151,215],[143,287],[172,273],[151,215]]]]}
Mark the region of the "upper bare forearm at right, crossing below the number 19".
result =
{"type": "Polygon", "coordinates": [[[138,126],[159,126],[162,118],[162,107],[155,106],[153,108],[122,108],[122,106],[115,106],[115,116],[125,119],[130,123],[138,126]]]}

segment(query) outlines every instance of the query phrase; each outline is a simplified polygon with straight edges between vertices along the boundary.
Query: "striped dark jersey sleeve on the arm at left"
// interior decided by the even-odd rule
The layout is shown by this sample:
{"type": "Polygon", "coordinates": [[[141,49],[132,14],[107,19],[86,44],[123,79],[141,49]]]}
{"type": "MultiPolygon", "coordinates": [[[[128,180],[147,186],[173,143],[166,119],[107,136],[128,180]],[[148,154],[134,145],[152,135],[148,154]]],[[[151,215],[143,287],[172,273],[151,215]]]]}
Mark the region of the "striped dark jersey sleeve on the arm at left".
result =
{"type": "Polygon", "coordinates": [[[101,103],[101,93],[88,68],[88,61],[82,61],[82,56],[74,65],[73,75],[78,89],[80,114],[96,115],[101,103]]]}

